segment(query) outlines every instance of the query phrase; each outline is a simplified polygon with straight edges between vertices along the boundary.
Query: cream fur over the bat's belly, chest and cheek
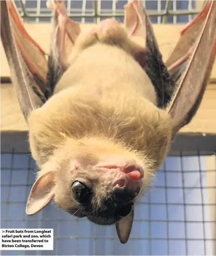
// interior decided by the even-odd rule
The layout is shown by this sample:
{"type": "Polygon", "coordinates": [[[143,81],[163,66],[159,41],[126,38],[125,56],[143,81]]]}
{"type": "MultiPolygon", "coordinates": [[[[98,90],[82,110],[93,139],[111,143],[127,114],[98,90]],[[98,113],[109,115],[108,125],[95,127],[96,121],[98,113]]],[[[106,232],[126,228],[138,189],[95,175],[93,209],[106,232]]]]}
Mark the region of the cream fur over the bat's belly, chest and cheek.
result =
{"type": "Polygon", "coordinates": [[[83,156],[89,166],[114,155],[136,159],[145,172],[143,190],[166,156],[172,131],[169,115],[155,106],[150,79],[121,47],[78,45],[71,60],[55,95],[29,117],[38,177],[56,172],[55,201],[63,209],[76,204],[70,186],[78,173],[69,171],[70,160],[83,156]]]}

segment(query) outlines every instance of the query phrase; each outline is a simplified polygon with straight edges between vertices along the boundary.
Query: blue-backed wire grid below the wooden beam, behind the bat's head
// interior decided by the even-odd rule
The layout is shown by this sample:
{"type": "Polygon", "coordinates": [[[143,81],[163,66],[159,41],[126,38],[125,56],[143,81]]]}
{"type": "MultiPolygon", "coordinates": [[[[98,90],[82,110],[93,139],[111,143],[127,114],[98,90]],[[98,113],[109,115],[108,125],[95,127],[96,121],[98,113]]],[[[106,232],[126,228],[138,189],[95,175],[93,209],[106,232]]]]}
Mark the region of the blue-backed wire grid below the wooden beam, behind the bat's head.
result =
{"type": "MultiPolygon", "coordinates": [[[[205,161],[198,156],[167,157],[154,188],[141,198],[130,239],[122,245],[114,226],[77,220],[53,205],[25,215],[34,161],[28,155],[2,154],[1,227],[54,229],[53,251],[26,251],[26,255],[211,255],[205,161]]],[[[2,251],[2,255],[25,252],[2,251]]]]}

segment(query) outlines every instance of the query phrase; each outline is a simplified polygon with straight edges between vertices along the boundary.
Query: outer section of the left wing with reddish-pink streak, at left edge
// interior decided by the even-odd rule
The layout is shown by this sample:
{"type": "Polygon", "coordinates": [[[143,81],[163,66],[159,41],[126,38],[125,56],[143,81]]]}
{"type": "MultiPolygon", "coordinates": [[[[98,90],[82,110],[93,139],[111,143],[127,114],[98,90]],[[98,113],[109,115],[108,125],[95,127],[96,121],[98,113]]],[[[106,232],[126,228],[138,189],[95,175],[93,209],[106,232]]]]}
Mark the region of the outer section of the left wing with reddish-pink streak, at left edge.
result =
{"type": "Polygon", "coordinates": [[[1,1],[1,40],[9,63],[11,80],[27,120],[29,113],[42,106],[46,100],[47,61],[42,49],[26,35],[13,1],[1,1]],[[37,56],[35,59],[32,58],[33,54],[37,56]]]}

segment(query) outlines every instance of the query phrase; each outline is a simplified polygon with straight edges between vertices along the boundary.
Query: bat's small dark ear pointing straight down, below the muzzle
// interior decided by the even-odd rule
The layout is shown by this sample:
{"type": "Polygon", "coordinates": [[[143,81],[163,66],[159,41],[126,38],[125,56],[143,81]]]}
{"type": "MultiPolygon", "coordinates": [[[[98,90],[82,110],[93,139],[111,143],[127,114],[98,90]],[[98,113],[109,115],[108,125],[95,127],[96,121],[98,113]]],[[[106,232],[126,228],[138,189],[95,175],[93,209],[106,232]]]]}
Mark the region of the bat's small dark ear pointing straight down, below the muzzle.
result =
{"type": "Polygon", "coordinates": [[[116,223],[117,235],[120,242],[122,242],[122,244],[125,244],[128,241],[128,238],[130,236],[130,232],[133,224],[133,215],[134,215],[134,208],[132,207],[131,212],[122,220],[116,223]]]}

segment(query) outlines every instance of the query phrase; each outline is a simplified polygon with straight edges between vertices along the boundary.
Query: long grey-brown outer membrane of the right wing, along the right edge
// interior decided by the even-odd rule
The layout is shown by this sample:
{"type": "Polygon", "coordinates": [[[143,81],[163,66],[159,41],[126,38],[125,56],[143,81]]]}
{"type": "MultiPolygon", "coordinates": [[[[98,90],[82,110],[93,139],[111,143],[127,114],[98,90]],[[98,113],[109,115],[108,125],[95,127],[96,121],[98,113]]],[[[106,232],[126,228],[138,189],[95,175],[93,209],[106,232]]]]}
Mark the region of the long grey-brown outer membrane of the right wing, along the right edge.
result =
{"type": "MultiPolygon", "coordinates": [[[[204,9],[206,18],[200,25],[191,57],[188,58],[186,67],[182,69],[184,72],[177,81],[177,91],[167,108],[174,122],[173,137],[196,114],[215,61],[216,1],[206,2],[204,9]]],[[[190,26],[189,28],[193,29],[190,26]]]]}

